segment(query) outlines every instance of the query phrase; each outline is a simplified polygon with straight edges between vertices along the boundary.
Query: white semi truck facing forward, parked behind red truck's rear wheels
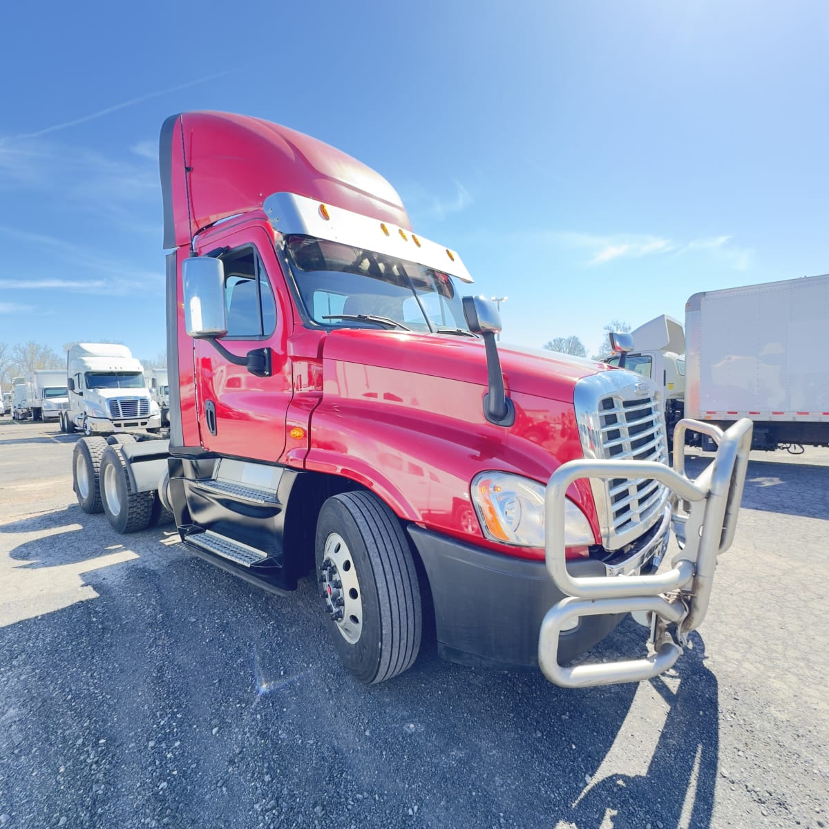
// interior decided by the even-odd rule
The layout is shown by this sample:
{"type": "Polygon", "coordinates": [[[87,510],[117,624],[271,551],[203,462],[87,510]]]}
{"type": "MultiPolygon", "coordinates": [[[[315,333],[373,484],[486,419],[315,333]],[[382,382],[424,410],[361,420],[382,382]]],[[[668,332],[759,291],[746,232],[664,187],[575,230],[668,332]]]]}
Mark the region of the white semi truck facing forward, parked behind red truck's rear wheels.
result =
{"type": "Polygon", "coordinates": [[[69,408],[61,413],[61,431],[93,435],[161,428],[141,363],[126,346],[75,343],[66,353],[66,385],[69,408]]]}

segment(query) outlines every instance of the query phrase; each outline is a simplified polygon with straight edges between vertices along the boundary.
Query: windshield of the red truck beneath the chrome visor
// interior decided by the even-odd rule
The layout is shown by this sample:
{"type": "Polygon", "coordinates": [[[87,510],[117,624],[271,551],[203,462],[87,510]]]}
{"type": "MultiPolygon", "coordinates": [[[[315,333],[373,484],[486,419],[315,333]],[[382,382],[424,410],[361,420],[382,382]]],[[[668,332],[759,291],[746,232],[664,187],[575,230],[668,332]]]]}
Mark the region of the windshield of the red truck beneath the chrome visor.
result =
{"type": "Polygon", "coordinates": [[[313,236],[286,236],[284,252],[305,311],[319,325],[468,333],[448,274],[313,236]]]}

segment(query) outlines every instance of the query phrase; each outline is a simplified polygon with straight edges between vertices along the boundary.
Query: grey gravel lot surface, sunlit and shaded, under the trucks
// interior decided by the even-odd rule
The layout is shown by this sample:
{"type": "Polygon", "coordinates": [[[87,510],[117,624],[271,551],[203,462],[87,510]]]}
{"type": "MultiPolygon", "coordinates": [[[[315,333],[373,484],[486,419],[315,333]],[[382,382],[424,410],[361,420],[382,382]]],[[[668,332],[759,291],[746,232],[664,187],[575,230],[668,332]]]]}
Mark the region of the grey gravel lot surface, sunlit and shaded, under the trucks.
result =
{"type": "Polygon", "coordinates": [[[432,643],[359,686],[312,584],[80,511],[74,441],[0,419],[0,827],[829,827],[829,450],[752,456],[676,671],[565,691],[432,643]]]}

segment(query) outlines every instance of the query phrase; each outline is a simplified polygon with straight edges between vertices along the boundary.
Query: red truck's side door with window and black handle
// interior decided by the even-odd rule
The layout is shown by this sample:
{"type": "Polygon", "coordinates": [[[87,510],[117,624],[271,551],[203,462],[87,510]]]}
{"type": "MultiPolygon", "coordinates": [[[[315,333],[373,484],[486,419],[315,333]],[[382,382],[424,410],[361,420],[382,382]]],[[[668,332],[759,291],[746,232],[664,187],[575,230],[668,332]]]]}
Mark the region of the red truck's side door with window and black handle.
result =
{"type": "Polygon", "coordinates": [[[293,388],[282,270],[261,227],[211,235],[204,248],[221,250],[227,334],[216,341],[221,348],[208,340],[194,341],[201,445],[223,456],[275,462],[285,448],[293,388]],[[270,351],[270,376],[258,376],[222,353],[245,358],[257,349],[270,351]]]}

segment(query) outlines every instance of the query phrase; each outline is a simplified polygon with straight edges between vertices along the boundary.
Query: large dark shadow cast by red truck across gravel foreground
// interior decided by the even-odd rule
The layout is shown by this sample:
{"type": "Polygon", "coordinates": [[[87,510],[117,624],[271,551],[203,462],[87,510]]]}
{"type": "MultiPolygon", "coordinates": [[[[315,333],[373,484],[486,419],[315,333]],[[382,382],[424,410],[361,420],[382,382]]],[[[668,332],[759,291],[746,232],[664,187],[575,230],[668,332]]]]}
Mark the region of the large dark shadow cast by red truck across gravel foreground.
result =
{"type": "MultiPolygon", "coordinates": [[[[2,531],[99,521],[70,508],[2,531]]],[[[159,544],[166,532],[95,535],[90,557],[105,539],[138,557],[85,573],[94,599],[0,628],[0,795],[19,825],[710,826],[718,692],[698,637],[650,685],[567,691],[426,643],[364,687],[334,657],[315,584],[269,596],[159,544]]],[[[59,546],[12,557],[80,555],[59,546]]],[[[644,635],[624,623],[594,656],[639,655],[644,635]]]]}

